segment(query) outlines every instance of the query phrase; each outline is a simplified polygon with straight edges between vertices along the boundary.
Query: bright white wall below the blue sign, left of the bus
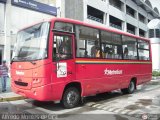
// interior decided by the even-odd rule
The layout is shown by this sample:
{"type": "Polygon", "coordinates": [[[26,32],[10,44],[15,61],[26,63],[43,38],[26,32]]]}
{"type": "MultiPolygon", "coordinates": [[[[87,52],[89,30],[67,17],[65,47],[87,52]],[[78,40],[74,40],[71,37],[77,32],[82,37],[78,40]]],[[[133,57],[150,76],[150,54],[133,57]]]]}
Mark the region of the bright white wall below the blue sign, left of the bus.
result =
{"type": "Polygon", "coordinates": [[[10,61],[10,50],[16,42],[17,32],[33,23],[40,22],[43,19],[54,17],[53,15],[27,9],[21,6],[11,4],[11,0],[7,0],[6,4],[0,3],[0,49],[3,53],[3,59],[10,61]],[[5,11],[6,6],[6,37],[4,32],[5,11]]]}

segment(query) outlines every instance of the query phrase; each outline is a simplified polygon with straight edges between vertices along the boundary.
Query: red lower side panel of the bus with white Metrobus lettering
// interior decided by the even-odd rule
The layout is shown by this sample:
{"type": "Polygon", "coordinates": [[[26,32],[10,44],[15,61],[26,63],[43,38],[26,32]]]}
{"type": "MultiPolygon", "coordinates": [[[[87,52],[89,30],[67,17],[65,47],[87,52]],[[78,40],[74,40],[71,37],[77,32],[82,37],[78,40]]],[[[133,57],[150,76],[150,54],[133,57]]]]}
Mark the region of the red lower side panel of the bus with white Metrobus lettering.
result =
{"type": "Polygon", "coordinates": [[[76,59],[76,79],[83,81],[83,96],[127,88],[132,78],[136,78],[137,85],[151,80],[150,62],[126,62],[76,59]]]}

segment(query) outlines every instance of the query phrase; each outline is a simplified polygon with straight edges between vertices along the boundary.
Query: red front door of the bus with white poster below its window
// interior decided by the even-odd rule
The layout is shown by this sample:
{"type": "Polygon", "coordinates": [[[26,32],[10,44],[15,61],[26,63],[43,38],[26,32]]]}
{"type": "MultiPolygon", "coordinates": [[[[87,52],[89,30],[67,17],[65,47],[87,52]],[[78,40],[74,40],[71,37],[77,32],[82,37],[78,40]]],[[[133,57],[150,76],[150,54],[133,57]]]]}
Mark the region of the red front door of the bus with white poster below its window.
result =
{"type": "Polygon", "coordinates": [[[65,84],[75,80],[74,35],[55,32],[53,39],[52,83],[65,84]]]}

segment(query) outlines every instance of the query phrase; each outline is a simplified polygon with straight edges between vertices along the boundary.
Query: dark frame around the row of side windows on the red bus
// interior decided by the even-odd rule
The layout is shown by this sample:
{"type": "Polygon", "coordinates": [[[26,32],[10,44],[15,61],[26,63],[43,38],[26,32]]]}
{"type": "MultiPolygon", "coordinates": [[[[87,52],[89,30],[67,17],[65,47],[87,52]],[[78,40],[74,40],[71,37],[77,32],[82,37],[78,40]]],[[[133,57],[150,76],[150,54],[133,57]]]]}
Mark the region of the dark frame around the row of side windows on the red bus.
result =
{"type": "MultiPolygon", "coordinates": [[[[55,32],[55,33],[58,33],[59,35],[60,34],[62,34],[62,35],[64,35],[63,33],[65,33],[65,35],[74,35],[74,41],[73,41],[73,39],[72,39],[72,47],[74,46],[75,48],[73,48],[72,49],[72,57],[75,57],[75,58],[87,58],[87,59],[112,59],[112,60],[132,60],[132,61],[150,61],[151,60],[151,51],[150,51],[150,42],[149,41],[146,41],[146,40],[143,40],[143,39],[140,39],[140,38],[136,38],[136,37],[132,37],[132,36],[129,36],[129,35],[125,35],[125,34],[118,34],[118,33],[116,33],[116,32],[113,32],[113,31],[109,31],[109,30],[104,30],[104,29],[100,29],[100,28],[96,28],[96,27],[92,27],[92,26],[89,26],[89,25],[81,25],[81,24],[75,24],[75,23],[72,23],[72,22],[63,22],[63,21],[55,21],[55,23],[56,22],[60,22],[60,23],[68,23],[68,24],[72,24],[73,25],[73,32],[68,32],[68,31],[61,31],[61,30],[57,30],[57,29],[52,29],[52,31],[53,32],[55,32]],[[77,31],[76,31],[76,26],[83,26],[83,27],[87,27],[87,28],[91,28],[91,29],[96,29],[97,31],[98,31],[98,33],[99,33],[99,47],[100,47],[100,57],[77,57],[77,41],[78,41],[78,39],[77,39],[77,31]],[[108,33],[110,33],[111,34],[111,39],[113,39],[113,35],[112,34],[117,34],[117,35],[120,35],[121,36],[121,44],[114,44],[114,43],[107,43],[107,45],[113,45],[113,46],[116,46],[116,45],[121,45],[121,47],[122,47],[122,55],[121,55],[121,59],[116,59],[116,58],[103,58],[103,55],[102,55],[102,45],[104,44],[103,43],[103,40],[102,40],[102,31],[104,31],[104,32],[108,32],[108,33]],[[136,52],[137,52],[137,59],[124,59],[124,51],[123,51],[123,38],[124,38],[124,36],[125,37],[130,37],[130,38],[133,38],[133,39],[135,39],[136,41],[136,52]],[[149,49],[141,49],[141,48],[139,48],[138,47],[138,45],[139,45],[139,40],[141,40],[141,41],[145,41],[145,42],[147,42],[148,43],[148,45],[149,45],[149,49]],[[74,44],[74,45],[73,45],[74,44]],[[139,50],[147,50],[147,51],[149,51],[149,60],[140,60],[139,59],[139,50]]],[[[54,24],[55,24],[54,23],[54,24]]],[[[54,33],[54,34],[55,34],[54,33]]],[[[87,46],[87,41],[88,40],[84,40],[85,41],[85,49],[87,48],[86,46],[87,46]]]]}

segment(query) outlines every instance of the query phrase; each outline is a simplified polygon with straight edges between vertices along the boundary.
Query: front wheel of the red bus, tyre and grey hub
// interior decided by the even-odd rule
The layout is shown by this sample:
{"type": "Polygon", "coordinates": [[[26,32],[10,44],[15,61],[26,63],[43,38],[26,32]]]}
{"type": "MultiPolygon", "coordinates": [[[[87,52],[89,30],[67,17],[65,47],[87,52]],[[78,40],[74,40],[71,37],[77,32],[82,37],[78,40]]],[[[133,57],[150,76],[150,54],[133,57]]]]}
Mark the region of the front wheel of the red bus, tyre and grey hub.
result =
{"type": "Polygon", "coordinates": [[[64,91],[61,104],[67,109],[74,108],[80,103],[80,99],[79,90],[76,87],[69,87],[64,91]]]}

